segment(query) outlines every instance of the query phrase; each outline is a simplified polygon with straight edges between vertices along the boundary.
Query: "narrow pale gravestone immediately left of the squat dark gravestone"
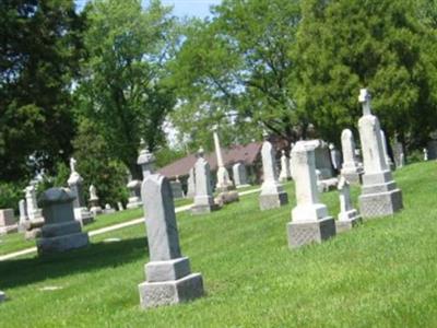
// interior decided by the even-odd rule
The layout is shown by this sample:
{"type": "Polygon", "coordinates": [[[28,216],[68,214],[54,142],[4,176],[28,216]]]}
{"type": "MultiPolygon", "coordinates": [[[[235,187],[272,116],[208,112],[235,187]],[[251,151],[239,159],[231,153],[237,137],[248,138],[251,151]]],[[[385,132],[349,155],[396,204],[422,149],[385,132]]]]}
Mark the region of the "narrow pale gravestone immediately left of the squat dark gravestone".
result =
{"type": "Polygon", "coordinates": [[[36,201],[36,188],[35,184],[27,186],[24,189],[25,198],[26,198],[26,209],[28,220],[25,223],[25,238],[33,239],[40,234],[40,227],[44,224],[43,212],[38,209],[38,204],[36,201]]]}

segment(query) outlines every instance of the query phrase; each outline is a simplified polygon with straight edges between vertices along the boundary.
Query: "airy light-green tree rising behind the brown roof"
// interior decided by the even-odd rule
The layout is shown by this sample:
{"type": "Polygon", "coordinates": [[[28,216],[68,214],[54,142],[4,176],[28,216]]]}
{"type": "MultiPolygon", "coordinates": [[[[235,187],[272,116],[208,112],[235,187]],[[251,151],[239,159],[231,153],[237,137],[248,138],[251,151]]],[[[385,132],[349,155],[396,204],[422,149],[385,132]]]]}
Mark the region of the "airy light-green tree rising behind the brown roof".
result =
{"type": "Polygon", "coordinates": [[[260,126],[296,139],[293,126],[300,121],[288,54],[300,21],[299,1],[225,0],[214,14],[212,21],[187,26],[173,63],[180,98],[175,125],[191,140],[217,121],[237,132],[229,142],[261,137],[260,126]]]}

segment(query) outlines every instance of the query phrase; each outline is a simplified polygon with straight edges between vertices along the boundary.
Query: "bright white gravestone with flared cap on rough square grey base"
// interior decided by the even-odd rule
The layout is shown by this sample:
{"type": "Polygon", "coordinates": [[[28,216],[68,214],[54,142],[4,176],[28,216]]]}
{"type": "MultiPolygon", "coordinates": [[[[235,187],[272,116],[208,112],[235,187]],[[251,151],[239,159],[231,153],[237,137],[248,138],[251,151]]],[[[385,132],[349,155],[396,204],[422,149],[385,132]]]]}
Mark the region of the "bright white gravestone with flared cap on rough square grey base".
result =
{"type": "Polygon", "coordinates": [[[287,224],[288,246],[297,248],[321,243],[335,235],[335,223],[326,204],[319,201],[314,142],[298,141],[293,148],[292,167],[296,207],[287,224]]]}

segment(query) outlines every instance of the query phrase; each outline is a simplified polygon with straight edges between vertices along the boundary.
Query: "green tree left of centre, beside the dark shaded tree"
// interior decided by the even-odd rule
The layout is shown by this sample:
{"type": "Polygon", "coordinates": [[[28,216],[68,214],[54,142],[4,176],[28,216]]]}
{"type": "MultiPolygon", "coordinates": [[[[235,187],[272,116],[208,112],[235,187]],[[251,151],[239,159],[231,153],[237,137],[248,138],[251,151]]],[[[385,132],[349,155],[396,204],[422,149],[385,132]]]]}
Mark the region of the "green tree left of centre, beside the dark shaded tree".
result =
{"type": "Polygon", "coordinates": [[[158,1],[96,0],[85,8],[87,59],[76,90],[78,112],[105,139],[111,157],[134,178],[143,138],[150,151],[163,143],[163,122],[175,104],[166,83],[173,56],[174,20],[158,1]]]}

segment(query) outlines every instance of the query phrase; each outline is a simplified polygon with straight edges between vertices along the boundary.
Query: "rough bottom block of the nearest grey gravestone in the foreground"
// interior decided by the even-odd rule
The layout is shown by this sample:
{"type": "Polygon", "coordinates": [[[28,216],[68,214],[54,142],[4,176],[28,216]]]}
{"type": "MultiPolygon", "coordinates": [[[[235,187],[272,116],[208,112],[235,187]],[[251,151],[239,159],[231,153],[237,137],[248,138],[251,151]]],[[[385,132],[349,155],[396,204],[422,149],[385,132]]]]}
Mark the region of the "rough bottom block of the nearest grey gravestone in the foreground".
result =
{"type": "Polygon", "coordinates": [[[170,281],[143,282],[138,285],[141,307],[150,308],[191,301],[203,295],[200,273],[191,273],[170,281]]]}

